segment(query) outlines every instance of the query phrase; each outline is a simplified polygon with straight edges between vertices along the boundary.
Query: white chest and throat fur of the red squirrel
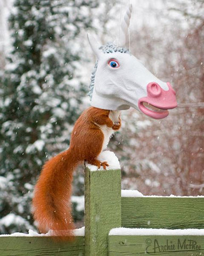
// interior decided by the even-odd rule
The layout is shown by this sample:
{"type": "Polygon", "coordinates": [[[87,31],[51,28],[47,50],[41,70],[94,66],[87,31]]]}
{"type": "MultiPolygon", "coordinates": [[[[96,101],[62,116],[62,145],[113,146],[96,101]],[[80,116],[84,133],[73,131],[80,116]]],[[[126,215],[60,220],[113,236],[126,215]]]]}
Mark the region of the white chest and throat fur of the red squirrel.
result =
{"type": "MultiPolygon", "coordinates": [[[[117,123],[119,121],[120,111],[118,110],[111,110],[109,113],[109,118],[112,120],[113,123],[117,123]]],[[[108,127],[107,125],[99,125],[101,131],[103,132],[103,146],[102,150],[106,149],[110,140],[111,135],[115,132],[112,128],[108,127]]]]}

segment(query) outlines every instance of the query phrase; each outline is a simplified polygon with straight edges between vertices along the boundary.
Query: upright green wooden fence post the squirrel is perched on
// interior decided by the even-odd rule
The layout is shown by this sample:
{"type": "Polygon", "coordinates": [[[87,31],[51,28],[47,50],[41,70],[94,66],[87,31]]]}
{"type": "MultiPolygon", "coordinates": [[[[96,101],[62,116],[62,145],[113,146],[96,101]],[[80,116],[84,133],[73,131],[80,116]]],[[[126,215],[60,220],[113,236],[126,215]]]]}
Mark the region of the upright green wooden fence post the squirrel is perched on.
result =
{"type": "Polygon", "coordinates": [[[85,255],[108,256],[110,229],[121,226],[120,170],[85,170],[85,255]]]}

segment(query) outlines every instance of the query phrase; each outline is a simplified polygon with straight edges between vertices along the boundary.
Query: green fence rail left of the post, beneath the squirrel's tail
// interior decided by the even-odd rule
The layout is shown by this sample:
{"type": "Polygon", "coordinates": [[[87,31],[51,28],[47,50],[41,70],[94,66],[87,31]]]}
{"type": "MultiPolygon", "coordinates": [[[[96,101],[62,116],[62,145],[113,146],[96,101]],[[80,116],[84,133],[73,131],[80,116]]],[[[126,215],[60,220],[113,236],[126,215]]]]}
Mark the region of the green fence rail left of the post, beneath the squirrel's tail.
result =
{"type": "Polygon", "coordinates": [[[1,256],[84,256],[84,237],[54,242],[51,237],[0,237],[1,256]]]}

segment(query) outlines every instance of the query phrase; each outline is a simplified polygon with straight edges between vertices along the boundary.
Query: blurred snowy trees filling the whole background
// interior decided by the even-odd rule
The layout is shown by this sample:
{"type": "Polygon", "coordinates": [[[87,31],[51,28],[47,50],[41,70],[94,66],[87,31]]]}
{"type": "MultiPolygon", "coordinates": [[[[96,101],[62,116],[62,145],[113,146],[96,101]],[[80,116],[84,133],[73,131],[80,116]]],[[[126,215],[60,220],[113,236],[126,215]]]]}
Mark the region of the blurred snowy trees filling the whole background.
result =
{"type": "MultiPolygon", "coordinates": [[[[95,31],[103,44],[117,38],[120,1],[0,0],[0,7],[5,234],[35,229],[30,202],[42,165],[68,148],[72,126],[89,106],[94,57],[84,38],[87,31],[95,31]]],[[[204,108],[198,102],[204,102],[204,3],[134,1],[130,38],[131,52],[172,83],[181,104],[160,121],[135,109],[123,111],[121,131],[109,143],[120,160],[122,187],[144,195],[203,195],[204,108]]],[[[79,168],[72,196],[77,226],[83,225],[83,177],[79,168]]]]}

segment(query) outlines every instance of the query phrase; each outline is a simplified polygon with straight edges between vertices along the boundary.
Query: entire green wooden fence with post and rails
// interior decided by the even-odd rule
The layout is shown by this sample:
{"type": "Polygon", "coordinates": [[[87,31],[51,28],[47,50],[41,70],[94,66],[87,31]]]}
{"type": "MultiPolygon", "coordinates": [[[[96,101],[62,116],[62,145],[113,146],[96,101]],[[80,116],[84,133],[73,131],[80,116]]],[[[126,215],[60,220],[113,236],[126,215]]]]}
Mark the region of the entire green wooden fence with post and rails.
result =
{"type": "Polygon", "coordinates": [[[204,256],[204,197],[121,197],[120,170],[86,167],[84,236],[0,236],[1,256],[144,254],[204,256]]]}

